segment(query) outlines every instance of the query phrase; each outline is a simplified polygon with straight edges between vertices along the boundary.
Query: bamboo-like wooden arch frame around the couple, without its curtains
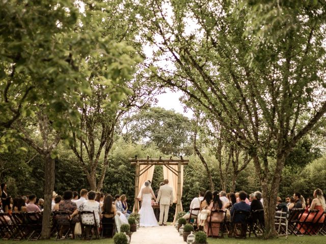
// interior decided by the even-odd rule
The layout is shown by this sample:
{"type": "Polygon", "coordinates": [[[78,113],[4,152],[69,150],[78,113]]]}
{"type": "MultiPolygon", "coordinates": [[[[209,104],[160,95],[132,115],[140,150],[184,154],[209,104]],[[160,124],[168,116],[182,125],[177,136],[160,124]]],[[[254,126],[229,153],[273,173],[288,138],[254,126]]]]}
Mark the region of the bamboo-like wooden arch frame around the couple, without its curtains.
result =
{"type": "Polygon", "coordinates": [[[138,212],[138,199],[137,195],[139,192],[139,176],[141,176],[143,173],[145,173],[147,170],[149,170],[153,165],[164,165],[166,166],[172,173],[178,176],[178,188],[177,188],[177,212],[181,211],[181,165],[187,165],[189,163],[188,159],[183,159],[182,157],[180,159],[150,159],[147,157],[147,159],[138,159],[137,156],[134,159],[129,159],[129,162],[131,165],[136,166],[136,172],[135,172],[135,179],[134,179],[134,211],[138,212]],[[146,165],[145,168],[140,170],[141,165],[146,165]],[[171,167],[171,165],[177,165],[178,170],[175,170],[171,167]]]}

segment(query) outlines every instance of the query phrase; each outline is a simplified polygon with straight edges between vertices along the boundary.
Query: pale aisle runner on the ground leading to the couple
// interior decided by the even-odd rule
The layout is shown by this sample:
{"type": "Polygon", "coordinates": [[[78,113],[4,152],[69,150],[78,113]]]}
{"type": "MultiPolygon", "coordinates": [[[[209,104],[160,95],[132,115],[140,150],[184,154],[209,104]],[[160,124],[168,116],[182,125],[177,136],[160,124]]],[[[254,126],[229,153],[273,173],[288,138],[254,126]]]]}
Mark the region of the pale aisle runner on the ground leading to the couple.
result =
{"type": "Polygon", "coordinates": [[[182,236],[172,225],[141,227],[131,236],[131,244],[185,244],[182,236]]]}

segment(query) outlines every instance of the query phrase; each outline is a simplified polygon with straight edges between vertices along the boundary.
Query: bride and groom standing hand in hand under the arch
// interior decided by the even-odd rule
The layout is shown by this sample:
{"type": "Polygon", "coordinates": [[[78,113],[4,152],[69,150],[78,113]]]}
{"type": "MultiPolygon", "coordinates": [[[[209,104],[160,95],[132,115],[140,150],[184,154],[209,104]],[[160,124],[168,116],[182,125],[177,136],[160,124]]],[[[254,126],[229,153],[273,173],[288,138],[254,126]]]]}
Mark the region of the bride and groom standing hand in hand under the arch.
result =
{"type": "Polygon", "coordinates": [[[142,187],[139,197],[142,200],[142,206],[139,211],[140,226],[158,226],[152,208],[152,198],[156,201],[156,204],[159,203],[159,225],[167,225],[169,208],[172,206],[173,202],[173,189],[168,184],[169,180],[165,179],[164,185],[159,188],[156,199],[150,181],[145,181],[145,185],[142,187]]]}

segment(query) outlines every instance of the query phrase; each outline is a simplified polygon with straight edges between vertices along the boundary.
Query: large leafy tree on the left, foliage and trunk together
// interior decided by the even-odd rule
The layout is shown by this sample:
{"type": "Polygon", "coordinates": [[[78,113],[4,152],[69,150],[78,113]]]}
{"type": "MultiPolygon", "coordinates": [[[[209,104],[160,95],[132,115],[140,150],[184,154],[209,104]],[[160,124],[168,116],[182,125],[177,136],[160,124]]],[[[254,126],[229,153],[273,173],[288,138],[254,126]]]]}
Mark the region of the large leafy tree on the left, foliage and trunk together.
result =
{"type": "Polygon", "coordinates": [[[0,100],[0,126],[5,129],[1,141],[6,150],[11,135],[18,135],[44,158],[42,238],[49,238],[55,149],[62,138],[68,137],[69,123],[78,125],[75,109],[81,102],[78,91],[91,94],[88,77],[92,70],[88,59],[96,59],[102,65],[101,81],[106,92],[116,88],[107,100],[109,107],[119,103],[125,92],[124,81],[134,72],[133,66],[139,59],[123,55],[133,49],[102,37],[100,28],[76,32],[78,26],[90,21],[100,23],[102,16],[80,14],[73,2],[7,1],[0,3],[0,9],[3,20],[0,86],[4,91],[0,100]],[[35,136],[35,131],[40,137],[35,136]]]}

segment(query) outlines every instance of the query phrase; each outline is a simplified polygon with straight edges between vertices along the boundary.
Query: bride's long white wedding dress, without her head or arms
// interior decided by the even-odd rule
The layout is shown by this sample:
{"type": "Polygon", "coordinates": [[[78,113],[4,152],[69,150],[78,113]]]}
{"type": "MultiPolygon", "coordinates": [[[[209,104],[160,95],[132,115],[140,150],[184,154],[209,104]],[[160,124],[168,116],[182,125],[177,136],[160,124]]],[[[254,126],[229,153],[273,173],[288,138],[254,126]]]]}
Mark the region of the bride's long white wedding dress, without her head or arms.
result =
{"type": "Polygon", "coordinates": [[[140,220],[139,225],[141,227],[154,227],[158,226],[157,220],[154,215],[154,210],[152,208],[152,194],[143,194],[143,203],[141,210],[139,211],[140,220]]]}

